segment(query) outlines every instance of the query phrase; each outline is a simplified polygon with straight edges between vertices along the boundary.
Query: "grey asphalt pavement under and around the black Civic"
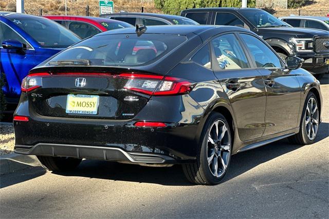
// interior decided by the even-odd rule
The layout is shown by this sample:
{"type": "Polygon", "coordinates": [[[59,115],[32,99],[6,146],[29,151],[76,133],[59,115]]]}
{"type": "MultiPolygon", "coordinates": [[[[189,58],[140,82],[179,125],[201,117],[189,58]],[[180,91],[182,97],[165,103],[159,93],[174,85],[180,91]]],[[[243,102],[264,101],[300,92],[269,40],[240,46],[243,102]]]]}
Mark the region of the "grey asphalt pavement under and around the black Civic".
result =
{"type": "Polygon", "coordinates": [[[287,140],[232,156],[224,182],[191,185],[179,166],[84,160],[76,171],[40,167],[0,178],[0,217],[329,217],[329,77],[321,80],[317,142],[287,140]]]}

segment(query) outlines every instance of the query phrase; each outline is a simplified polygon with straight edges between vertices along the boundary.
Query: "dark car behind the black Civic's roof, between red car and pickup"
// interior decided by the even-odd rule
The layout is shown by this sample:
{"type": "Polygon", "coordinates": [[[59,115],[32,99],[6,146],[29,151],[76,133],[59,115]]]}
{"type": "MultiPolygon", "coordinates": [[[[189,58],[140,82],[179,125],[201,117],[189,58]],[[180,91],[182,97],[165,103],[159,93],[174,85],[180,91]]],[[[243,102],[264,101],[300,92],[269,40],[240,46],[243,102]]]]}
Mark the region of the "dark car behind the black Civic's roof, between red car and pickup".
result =
{"type": "Polygon", "coordinates": [[[187,19],[186,17],[169,15],[169,14],[155,14],[155,13],[114,13],[101,14],[100,17],[107,19],[119,20],[131,25],[143,24],[145,26],[151,25],[197,25],[198,23],[187,19]]]}

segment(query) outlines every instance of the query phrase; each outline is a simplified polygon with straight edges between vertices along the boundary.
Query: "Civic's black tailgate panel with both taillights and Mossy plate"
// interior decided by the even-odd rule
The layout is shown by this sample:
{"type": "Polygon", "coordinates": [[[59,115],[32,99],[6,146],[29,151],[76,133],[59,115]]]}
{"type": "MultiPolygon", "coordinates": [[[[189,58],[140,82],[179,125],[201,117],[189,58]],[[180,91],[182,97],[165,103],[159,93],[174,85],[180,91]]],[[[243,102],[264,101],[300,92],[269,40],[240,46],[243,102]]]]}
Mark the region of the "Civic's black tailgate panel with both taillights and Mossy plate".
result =
{"type": "Polygon", "coordinates": [[[64,118],[131,119],[152,95],[189,93],[189,81],[150,74],[123,72],[38,72],[22,83],[30,111],[64,118]]]}

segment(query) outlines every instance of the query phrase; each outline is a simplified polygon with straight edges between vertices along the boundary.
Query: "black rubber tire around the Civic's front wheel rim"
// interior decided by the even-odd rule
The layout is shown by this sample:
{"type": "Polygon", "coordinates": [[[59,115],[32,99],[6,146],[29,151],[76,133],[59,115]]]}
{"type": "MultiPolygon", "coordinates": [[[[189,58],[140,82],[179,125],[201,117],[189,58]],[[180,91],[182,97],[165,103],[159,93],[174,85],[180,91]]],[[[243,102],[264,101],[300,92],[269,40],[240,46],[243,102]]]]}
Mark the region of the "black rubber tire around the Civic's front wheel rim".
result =
{"type": "MultiPolygon", "coordinates": [[[[312,144],[315,142],[316,136],[318,134],[318,129],[319,129],[319,120],[318,120],[318,128],[316,130],[316,135],[313,139],[310,139],[308,137],[307,130],[306,130],[306,109],[307,109],[307,104],[311,98],[314,98],[316,101],[317,107],[319,106],[316,96],[312,92],[309,92],[306,97],[305,103],[304,103],[303,113],[302,113],[302,117],[301,117],[301,121],[300,121],[300,125],[299,125],[299,133],[297,133],[296,135],[290,136],[288,138],[290,143],[305,145],[305,144],[312,144]]],[[[319,111],[318,111],[318,114],[319,114],[319,111]]],[[[318,115],[318,118],[320,118],[320,115],[318,115]]]]}

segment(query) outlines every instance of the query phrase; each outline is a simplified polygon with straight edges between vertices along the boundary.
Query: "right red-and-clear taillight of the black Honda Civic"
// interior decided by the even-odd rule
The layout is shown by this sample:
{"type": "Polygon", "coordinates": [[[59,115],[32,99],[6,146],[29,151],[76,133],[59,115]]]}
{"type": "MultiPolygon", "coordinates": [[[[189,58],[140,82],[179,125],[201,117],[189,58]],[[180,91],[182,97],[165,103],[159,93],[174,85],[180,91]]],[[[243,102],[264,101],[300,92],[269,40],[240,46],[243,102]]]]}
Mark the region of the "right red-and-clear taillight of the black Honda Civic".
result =
{"type": "Polygon", "coordinates": [[[193,89],[191,82],[174,77],[143,74],[120,74],[119,77],[129,79],[124,86],[125,89],[148,95],[188,94],[193,89]]]}

